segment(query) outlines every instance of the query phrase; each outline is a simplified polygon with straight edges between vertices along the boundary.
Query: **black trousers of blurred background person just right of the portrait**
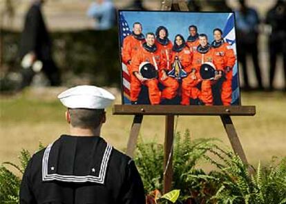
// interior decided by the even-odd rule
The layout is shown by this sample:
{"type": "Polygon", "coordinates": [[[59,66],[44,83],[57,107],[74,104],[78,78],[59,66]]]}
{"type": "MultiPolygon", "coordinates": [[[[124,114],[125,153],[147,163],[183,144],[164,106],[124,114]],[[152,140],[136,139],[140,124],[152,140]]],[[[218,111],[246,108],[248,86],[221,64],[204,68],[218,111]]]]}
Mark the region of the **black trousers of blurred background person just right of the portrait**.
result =
{"type": "Polygon", "coordinates": [[[251,59],[254,64],[254,70],[256,74],[256,80],[258,82],[258,88],[263,88],[260,66],[258,63],[258,41],[243,42],[238,41],[238,61],[241,63],[243,80],[245,88],[249,88],[249,78],[247,74],[247,54],[251,54],[251,59]]]}

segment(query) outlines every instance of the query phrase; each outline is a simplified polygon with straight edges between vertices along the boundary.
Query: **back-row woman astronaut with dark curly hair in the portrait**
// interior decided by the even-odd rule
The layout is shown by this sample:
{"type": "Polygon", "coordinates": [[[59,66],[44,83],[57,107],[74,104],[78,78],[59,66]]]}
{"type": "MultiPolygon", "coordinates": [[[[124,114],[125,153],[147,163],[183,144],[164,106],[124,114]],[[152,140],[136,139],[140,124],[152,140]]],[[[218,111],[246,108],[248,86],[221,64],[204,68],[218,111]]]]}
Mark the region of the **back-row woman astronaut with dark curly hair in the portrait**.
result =
{"type": "Polygon", "coordinates": [[[168,30],[164,26],[159,26],[155,34],[155,45],[162,54],[162,60],[164,61],[164,68],[161,68],[159,71],[159,81],[164,85],[164,90],[162,90],[161,95],[161,104],[169,104],[172,103],[171,100],[175,98],[179,88],[178,81],[166,74],[171,67],[171,50],[173,43],[168,39],[168,30]]]}

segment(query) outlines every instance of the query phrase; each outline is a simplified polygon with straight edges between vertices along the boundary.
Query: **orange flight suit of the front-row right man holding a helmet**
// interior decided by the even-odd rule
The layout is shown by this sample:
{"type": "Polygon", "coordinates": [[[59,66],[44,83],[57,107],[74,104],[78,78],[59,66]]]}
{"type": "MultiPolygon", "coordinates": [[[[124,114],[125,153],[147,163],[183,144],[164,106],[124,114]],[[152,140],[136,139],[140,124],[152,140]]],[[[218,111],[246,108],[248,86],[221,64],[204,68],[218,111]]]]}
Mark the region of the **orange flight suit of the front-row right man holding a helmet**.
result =
{"type": "MultiPolygon", "coordinates": [[[[200,66],[205,62],[211,62],[216,66],[216,70],[223,71],[223,60],[220,57],[216,57],[215,50],[212,48],[204,54],[200,53],[199,50],[193,52],[192,67],[196,69],[196,73],[200,73],[200,66]]],[[[200,74],[198,75],[201,79],[200,74]]],[[[216,81],[202,80],[199,98],[205,105],[213,105],[213,95],[211,91],[211,85],[213,85],[213,83],[216,83],[216,81]]]]}

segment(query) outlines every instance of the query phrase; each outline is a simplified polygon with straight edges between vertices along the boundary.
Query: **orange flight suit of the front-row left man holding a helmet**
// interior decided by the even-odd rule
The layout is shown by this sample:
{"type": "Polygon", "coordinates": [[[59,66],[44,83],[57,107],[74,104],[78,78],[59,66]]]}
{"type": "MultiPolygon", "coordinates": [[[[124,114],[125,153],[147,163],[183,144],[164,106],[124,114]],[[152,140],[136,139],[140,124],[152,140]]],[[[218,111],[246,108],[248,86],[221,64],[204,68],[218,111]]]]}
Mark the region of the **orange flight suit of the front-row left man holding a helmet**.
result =
{"type": "MultiPolygon", "coordinates": [[[[164,60],[162,60],[162,54],[157,49],[155,52],[149,52],[145,48],[141,48],[132,59],[131,63],[131,101],[137,101],[140,94],[142,82],[137,79],[134,72],[139,72],[139,66],[142,62],[148,61],[160,72],[160,69],[164,67],[164,60]]],[[[158,88],[158,79],[148,79],[143,82],[149,90],[149,100],[152,105],[160,103],[161,92],[158,88]]]]}

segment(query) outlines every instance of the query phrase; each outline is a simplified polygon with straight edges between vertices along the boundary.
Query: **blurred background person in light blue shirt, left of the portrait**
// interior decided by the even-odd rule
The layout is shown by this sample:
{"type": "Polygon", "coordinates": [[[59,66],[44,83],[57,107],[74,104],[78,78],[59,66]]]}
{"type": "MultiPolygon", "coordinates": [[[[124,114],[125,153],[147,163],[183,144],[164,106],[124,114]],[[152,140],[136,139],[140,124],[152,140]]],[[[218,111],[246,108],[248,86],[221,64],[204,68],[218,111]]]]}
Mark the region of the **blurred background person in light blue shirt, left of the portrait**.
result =
{"type": "Polygon", "coordinates": [[[111,0],[97,0],[93,2],[88,11],[88,17],[96,20],[95,30],[108,30],[116,23],[116,9],[111,0]]]}

